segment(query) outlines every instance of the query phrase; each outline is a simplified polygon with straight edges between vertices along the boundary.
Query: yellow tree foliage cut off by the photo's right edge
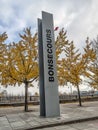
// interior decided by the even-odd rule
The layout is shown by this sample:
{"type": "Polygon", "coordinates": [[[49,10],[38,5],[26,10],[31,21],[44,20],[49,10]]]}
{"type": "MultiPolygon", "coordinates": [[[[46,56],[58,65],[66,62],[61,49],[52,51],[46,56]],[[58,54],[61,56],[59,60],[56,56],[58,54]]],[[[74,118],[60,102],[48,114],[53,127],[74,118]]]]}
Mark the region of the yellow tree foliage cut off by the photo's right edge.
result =
{"type": "Polygon", "coordinates": [[[83,55],[84,62],[87,62],[85,76],[88,77],[89,84],[98,89],[98,43],[96,44],[95,48],[92,46],[92,44],[93,43],[90,42],[89,38],[87,38],[86,47],[84,48],[85,53],[83,55]]]}

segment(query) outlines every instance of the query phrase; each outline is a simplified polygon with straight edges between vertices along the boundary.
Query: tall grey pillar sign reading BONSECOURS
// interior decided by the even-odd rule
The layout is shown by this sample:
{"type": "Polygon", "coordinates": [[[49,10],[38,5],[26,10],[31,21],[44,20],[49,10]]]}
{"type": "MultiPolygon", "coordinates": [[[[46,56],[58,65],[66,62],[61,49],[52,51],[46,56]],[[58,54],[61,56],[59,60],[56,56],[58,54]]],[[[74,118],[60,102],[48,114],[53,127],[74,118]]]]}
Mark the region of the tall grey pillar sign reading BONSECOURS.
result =
{"type": "Polygon", "coordinates": [[[60,116],[53,15],[38,19],[40,116],[60,116]]]}

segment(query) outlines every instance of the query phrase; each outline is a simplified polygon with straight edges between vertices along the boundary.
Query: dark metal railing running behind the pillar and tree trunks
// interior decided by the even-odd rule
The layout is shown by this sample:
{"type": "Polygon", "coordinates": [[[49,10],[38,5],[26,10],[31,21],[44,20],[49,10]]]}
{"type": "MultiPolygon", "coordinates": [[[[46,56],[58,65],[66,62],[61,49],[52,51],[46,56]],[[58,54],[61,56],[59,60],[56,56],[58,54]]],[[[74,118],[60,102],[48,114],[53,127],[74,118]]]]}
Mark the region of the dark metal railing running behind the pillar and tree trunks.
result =
{"type": "MultiPolygon", "coordinates": [[[[82,99],[98,98],[98,94],[81,95],[82,99]]],[[[60,95],[60,102],[78,100],[78,95],[60,95]]],[[[0,97],[0,104],[24,103],[24,96],[2,96],[0,97]]],[[[39,96],[28,96],[28,102],[39,102],[39,96]]]]}

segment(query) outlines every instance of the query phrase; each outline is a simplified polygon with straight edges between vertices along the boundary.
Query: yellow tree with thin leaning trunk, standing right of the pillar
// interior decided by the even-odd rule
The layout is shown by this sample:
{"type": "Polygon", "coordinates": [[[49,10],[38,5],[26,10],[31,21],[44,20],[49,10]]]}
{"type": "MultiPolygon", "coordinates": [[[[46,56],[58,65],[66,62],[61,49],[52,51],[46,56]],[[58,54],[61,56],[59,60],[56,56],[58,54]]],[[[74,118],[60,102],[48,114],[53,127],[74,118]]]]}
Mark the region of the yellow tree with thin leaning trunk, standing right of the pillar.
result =
{"type": "Polygon", "coordinates": [[[76,50],[73,42],[70,43],[66,49],[64,49],[65,58],[61,62],[61,75],[62,75],[62,84],[70,82],[77,87],[78,96],[79,96],[79,105],[81,106],[81,97],[79,84],[81,83],[81,77],[84,68],[81,63],[81,54],[79,50],[76,50]]]}

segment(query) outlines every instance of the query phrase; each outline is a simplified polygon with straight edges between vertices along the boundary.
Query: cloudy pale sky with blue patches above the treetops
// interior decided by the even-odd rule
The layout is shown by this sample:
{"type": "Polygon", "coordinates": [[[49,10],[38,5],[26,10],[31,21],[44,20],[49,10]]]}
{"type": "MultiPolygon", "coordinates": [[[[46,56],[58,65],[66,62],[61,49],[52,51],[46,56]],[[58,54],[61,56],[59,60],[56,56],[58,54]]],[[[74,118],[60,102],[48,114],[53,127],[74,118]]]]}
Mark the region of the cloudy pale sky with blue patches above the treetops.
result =
{"type": "Polygon", "coordinates": [[[98,0],[0,0],[0,33],[12,42],[26,27],[36,32],[42,10],[53,14],[54,26],[64,27],[78,48],[98,34],[98,0]]]}

